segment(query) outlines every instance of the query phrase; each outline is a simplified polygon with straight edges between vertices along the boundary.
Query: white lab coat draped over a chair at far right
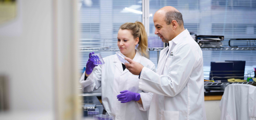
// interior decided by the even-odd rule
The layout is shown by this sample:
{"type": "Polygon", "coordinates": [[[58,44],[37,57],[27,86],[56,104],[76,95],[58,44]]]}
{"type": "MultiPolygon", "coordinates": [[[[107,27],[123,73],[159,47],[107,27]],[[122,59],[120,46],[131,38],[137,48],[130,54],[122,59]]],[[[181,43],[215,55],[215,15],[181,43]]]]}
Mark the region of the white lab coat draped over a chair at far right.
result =
{"type": "Polygon", "coordinates": [[[256,120],[256,87],[230,84],[220,100],[220,120],[256,120]]]}

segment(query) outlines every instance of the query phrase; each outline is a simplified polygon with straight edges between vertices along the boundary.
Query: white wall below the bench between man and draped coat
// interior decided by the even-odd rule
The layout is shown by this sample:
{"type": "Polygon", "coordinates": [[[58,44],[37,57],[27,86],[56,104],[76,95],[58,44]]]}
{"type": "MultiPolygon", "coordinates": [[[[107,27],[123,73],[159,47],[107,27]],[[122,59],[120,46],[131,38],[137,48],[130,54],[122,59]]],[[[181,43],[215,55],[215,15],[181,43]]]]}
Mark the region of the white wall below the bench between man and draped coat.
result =
{"type": "Polygon", "coordinates": [[[220,104],[220,100],[204,101],[207,120],[220,120],[219,104],[220,104]]]}

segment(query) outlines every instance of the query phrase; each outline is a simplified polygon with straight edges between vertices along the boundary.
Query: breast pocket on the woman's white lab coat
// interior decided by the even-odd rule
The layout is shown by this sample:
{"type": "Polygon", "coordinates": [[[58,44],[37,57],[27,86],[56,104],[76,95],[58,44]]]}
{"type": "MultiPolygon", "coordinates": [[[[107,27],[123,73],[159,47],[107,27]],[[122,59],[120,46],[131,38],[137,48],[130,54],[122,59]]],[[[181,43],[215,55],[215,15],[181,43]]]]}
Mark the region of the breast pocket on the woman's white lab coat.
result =
{"type": "Polygon", "coordinates": [[[126,89],[131,92],[137,92],[139,90],[139,76],[131,75],[127,80],[126,89]]]}

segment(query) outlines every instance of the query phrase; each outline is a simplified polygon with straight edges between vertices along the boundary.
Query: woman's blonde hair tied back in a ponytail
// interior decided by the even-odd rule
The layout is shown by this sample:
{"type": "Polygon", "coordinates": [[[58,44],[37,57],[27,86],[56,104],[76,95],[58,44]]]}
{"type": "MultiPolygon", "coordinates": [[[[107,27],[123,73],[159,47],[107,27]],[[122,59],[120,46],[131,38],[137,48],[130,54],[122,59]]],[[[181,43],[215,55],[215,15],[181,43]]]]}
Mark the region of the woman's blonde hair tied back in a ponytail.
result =
{"type": "Polygon", "coordinates": [[[128,29],[132,31],[132,36],[135,38],[139,37],[139,45],[137,47],[137,50],[140,52],[142,56],[148,57],[148,36],[146,33],[146,30],[144,28],[144,25],[136,21],[135,23],[132,22],[126,22],[123,25],[120,26],[120,29],[128,29]]]}

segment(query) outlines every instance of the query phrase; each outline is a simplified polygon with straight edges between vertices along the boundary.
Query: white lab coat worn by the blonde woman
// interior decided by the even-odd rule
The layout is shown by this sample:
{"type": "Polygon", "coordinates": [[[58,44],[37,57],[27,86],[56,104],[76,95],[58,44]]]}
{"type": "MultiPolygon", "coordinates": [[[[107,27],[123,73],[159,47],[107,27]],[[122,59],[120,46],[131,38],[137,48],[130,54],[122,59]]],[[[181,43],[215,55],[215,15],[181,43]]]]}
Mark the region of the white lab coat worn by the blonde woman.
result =
{"type": "MultiPolygon", "coordinates": [[[[123,70],[122,63],[118,60],[116,54],[103,58],[105,64],[93,69],[90,76],[84,80],[84,74],[80,83],[84,92],[102,89],[102,104],[104,109],[116,120],[148,120],[148,110],[153,93],[139,90],[139,76],[132,75],[129,70],[123,70]],[[121,91],[129,90],[140,93],[142,104],[137,101],[121,103],[117,95],[121,91]]],[[[143,66],[152,71],[156,71],[154,63],[136,52],[133,58],[143,66]]]]}

